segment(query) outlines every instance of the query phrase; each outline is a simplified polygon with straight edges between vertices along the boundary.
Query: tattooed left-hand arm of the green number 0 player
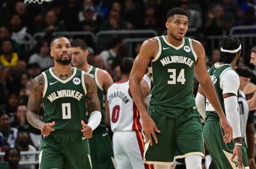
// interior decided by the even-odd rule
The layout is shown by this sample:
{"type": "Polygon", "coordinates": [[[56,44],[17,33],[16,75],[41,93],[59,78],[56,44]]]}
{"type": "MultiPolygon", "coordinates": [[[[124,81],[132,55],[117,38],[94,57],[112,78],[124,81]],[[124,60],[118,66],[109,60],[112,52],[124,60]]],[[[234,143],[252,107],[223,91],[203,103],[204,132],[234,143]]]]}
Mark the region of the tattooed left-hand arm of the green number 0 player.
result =
{"type": "Polygon", "coordinates": [[[31,94],[29,95],[28,101],[28,112],[27,119],[28,122],[35,127],[36,129],[41,130],[41,133],[44,136],[48,136],[51,132],[54,131],[51,127],[54,126],[55,122],[44,123],[39,115],[38,110],[42,103],[42,93],[44,91],[44,78],[41,75],[35,78],[31,90],[31,94]]]}

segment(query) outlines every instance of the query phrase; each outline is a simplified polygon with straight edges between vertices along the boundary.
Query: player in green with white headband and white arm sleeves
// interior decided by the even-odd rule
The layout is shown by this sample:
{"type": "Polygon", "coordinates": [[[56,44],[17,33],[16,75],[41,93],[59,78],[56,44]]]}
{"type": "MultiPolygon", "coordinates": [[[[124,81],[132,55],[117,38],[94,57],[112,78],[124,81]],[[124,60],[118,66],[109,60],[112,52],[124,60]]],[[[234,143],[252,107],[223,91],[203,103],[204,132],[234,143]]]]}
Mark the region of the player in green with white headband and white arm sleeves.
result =
{"type": "Polygon", "coordinates": [[[212,156],[216,168],[242,168],[248,167],[245,144],[241,139],[240,120],[237,109],[237,93],[239,92],[239,76],[234,67],[240,57],[241,43],[237,37],[227,36],[221,42],[220,62],[215,63],[209,69],[208,73],[214,83],[215,90],[221,102],[223,111],[228,122],[233,128],[233,138],[231,143],[223,142],[223,130],[220,127],[220,120],[212,107],[212,104],[206,99],[205,90],[199,87],[196,104],[200,114],[206,110],[206,122],[203,128],[203,138],[207,149],[212,156]],[[233,152],[233,155],[232,155],[233,152]],[[237,156],[237,159],[234,157],[237,156]]]}

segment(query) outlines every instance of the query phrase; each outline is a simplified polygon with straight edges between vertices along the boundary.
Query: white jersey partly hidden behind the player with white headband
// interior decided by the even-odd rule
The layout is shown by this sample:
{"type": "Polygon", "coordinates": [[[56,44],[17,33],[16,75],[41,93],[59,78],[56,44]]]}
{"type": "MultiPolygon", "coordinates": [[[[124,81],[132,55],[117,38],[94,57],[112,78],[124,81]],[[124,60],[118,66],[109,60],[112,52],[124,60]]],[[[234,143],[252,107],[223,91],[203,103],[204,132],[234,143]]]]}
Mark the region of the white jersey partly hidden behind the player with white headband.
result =
{"type": "Polygon", "coordinates": [[[241,134],[242,137],[246,137],[246,124],[249,115],[249,106],[246,102],[245,92],[242,90],[239,90],[238,112],[240,117],[241,134]]]}

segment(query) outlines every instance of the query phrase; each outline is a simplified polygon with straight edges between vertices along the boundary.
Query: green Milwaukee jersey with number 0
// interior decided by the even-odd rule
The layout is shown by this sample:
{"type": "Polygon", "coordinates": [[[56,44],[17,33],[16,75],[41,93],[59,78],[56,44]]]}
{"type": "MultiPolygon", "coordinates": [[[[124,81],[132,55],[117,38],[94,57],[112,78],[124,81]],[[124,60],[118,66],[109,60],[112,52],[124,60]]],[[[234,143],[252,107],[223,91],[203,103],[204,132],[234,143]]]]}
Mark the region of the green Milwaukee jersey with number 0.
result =
{"type": "Polygon", "coordinates": [[[84,72],[74,68],[74,73],[61,80],[49,68],[44,76],[44,123],[55,121],[56,130],[80,131],[81,120],[86,120],[86,87],[84,72]]]}

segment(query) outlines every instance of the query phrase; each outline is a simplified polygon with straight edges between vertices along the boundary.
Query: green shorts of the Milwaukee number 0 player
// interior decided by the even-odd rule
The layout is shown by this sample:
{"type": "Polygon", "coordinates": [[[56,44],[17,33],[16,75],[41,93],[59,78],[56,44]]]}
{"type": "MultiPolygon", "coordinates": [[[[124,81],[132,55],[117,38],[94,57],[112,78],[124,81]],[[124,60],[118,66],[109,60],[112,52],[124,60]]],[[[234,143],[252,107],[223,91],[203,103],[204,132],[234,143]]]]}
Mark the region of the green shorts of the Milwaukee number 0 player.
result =
{"type": "Polygon", "coordinates": [[[81,132],[54,131],[41,137],[40,169],[91,169],[88,139],[81,132]]]}

